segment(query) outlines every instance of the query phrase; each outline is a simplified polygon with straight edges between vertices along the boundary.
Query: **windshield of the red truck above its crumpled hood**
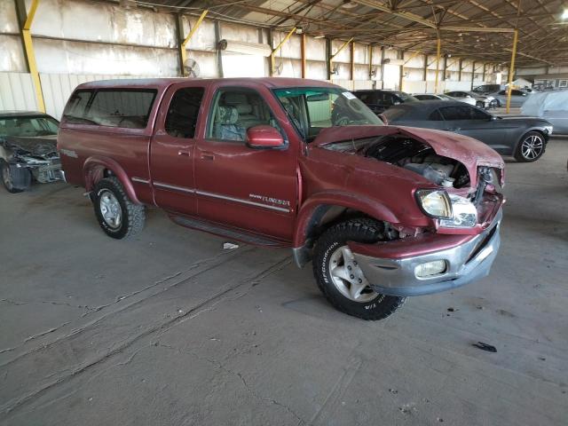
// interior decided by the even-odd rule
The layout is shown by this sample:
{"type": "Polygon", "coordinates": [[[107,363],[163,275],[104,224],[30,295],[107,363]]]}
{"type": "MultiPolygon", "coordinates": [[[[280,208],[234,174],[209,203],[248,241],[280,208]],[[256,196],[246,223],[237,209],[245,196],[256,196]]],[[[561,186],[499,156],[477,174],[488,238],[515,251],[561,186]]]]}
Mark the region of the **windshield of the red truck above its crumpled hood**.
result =
{"type": "Polygon", "coordinates": [[[376,125],[383,122],[350,91],[335,87],[276,89],[274,94],[304,140],[334,126],[376,125]]]}

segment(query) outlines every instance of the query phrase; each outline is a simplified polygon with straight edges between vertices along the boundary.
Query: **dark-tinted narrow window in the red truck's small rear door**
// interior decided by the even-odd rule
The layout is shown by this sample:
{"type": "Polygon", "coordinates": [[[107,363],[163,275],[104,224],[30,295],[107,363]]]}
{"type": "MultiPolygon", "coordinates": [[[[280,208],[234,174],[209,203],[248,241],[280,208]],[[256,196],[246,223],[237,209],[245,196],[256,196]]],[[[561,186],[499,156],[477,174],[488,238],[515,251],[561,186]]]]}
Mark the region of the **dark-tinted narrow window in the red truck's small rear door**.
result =
{"type": "Polygon", "coordinates": [[[165,123],[170,136],[193,138],[204,92],[202,87],[186,87],[174,93],[165,123]]]}

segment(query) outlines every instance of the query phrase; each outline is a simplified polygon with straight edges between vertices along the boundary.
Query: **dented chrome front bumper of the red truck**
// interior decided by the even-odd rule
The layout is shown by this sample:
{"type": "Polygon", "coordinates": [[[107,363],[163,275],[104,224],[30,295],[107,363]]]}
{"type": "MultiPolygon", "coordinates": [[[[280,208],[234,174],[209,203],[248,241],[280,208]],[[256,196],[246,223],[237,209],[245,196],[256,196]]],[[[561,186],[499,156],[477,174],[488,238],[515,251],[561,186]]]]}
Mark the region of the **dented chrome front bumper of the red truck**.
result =
{"type": "Polygon", "coordinates": [[[438,293],[480,280],[489,274],[501,244],[501,217],[500,209],[483,233],[453,248],[400,258],[366,256],[356,252],[353,255],[377,293],[390,296],[438,293]],[[417,265],[435,260],[446,261],[446,272],[428,278],[416,276],[414,269],[417,265]]]}

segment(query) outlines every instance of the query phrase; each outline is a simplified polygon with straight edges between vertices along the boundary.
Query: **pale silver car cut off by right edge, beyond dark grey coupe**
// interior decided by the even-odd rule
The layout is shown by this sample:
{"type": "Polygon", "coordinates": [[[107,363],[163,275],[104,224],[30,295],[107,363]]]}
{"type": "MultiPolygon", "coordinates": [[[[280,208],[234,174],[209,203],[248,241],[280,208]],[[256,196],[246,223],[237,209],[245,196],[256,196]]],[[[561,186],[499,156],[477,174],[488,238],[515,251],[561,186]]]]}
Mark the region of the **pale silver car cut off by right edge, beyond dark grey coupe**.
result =
{"type": "Polygon", "coordinates": [[[554,126],[554,132],[568,135],[568,91],[540,91],[523,104],[521,114],[540,117],[554,126]]]}

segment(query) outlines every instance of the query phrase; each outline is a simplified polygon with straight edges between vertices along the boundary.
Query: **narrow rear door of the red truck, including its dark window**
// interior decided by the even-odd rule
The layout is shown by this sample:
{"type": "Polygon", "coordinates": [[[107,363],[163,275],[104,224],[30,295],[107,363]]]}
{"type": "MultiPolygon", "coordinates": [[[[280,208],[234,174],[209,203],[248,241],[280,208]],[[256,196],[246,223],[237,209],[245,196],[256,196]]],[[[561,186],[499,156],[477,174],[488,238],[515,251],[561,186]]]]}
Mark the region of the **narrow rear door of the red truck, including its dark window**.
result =
{"type": "Polygon", "coordinates": [[[150,175],[154,201],[162,209],[194,215],[197,212],[193,162],[195,127],[204,88],[170,88],[164,95],[150,144],[150,175]]]}

